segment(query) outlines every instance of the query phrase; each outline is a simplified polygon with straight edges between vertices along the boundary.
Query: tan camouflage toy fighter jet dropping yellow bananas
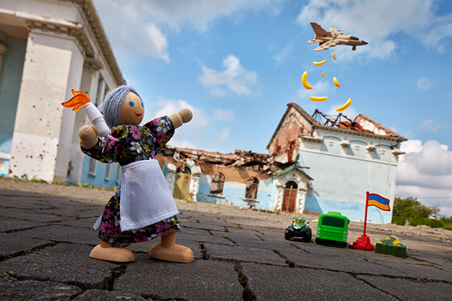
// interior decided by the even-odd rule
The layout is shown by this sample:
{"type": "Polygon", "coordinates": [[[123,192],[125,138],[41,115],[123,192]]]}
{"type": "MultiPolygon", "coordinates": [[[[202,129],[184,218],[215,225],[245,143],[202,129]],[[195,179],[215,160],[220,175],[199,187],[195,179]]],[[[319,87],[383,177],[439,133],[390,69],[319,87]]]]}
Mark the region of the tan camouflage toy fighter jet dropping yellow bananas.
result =
{"type": "Polygon", "coordinates": [[[339,29],[330,27],[330,31],[325,31],[319,24],[311,22],[312,29],[314,29],[315,37],[308,41],[308,43],[320,43],[315,51],[328,49],[336,45],[350,45],[352,50],[356,50],[356,46],[367,45],[368,43],[354,36],[345,35],[339,29]]]}

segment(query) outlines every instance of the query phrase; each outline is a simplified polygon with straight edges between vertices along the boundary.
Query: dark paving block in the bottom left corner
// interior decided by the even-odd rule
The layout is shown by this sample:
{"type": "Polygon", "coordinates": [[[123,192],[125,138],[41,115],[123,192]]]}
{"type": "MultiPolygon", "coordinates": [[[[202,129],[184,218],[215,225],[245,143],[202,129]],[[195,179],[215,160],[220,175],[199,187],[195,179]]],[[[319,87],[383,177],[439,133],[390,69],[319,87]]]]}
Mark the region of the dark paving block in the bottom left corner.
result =
{"type": "MultiPolygon", "coordinates": [[[[2,272],[3,275],[5,273],[2,272]]],[[[75,298],[82,290],[77,286],[52,281],[24,280],[0,276],[0,300],[59,301],[75,298]]]]}

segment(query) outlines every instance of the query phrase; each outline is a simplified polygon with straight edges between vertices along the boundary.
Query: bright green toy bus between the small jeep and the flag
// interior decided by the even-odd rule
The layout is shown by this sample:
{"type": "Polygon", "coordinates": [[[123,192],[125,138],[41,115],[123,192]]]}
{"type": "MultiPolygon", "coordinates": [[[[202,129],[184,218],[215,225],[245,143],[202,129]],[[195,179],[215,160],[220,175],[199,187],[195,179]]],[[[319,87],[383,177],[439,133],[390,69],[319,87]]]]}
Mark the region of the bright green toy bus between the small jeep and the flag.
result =
{"type": "Polygon", "coordinates": [[[334,211],[320,215],[315,242],[319,245],[347,247],[349,222],[347,217],[334,211]]]}

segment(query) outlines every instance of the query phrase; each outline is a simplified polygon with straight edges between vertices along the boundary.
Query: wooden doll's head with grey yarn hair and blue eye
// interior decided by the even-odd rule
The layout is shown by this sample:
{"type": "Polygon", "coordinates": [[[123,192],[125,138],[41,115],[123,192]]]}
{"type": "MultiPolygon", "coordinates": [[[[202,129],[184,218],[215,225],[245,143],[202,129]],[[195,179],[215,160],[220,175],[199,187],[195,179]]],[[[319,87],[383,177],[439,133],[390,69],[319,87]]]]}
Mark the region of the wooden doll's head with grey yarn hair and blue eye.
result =
{"type": "Polygon", "coordinates": [[[110,91],[98,107],[109,128],[121,124],[139,125],[143,120],[144,105],[131,86],[119,86],[110,91]]]}

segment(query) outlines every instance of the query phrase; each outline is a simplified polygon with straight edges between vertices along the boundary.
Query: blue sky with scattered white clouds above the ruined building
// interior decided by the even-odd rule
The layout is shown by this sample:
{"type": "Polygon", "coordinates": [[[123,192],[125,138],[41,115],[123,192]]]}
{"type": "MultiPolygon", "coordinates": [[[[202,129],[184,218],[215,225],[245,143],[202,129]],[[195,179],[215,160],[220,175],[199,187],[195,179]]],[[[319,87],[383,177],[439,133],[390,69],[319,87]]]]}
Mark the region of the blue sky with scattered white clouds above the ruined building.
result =
{"type": "Polygon", "coordinates": [[[266,153],[287,103],[335,114],[351,98],[343,114],[366,114],[409,139],[396,196],[452,215],[450,1],[93,2],[123,76],[144,100],[144,120],[193,110],[169,144],[266,153]],[[369,44],[315,52],[310,22],[369,44]],[[311,91],[301,84],[305,71],[311,91]]]}

